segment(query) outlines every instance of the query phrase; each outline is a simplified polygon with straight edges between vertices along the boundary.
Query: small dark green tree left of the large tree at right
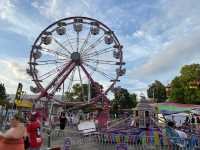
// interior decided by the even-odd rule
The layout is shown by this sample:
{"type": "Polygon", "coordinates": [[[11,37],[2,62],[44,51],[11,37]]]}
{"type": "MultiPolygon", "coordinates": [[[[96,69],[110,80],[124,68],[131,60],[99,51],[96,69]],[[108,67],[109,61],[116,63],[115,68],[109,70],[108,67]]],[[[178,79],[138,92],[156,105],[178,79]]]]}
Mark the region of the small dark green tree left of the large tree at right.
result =
{"type": "Polygon", "coordinates": [[[153,98],[156,102],[164,102],[167,99],[165,86],[160,81],[155,81],[147,90],[149,98],[153,98]]]}

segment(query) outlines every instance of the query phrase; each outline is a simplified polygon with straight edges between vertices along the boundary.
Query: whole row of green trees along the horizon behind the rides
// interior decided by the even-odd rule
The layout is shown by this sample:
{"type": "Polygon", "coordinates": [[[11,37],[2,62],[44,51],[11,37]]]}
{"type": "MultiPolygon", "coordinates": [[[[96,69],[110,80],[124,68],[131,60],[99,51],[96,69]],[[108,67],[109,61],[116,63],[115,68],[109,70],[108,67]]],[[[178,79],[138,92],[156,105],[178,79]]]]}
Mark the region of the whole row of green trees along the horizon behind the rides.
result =
{"type": "MultiPolygon", "coordinates": [[[[97,88],[103,90],[103,86],[95,83],[94,86],[88,84],[73,85],[70,91],[66,91],[64,99],[67,101],[83,101],[88,99],[88,90],[90,88],[90,98],[97,96],[97,88]]],[[[149,85],[147,95],[154,102],[164,102],[166,100],[186,103],[200,104],[200,64],[184,65],[180,74],[170,82],[169,95],[166,93],[166,86],[156,80],[149,85]]],[[[133,108],[137,104],[135,93],[129,93],[125,88],[120,88],[114,93],[114,98],[111,100],[111,111],[117,112],[120,109],[133,108]]],[[[0,103],[7,100],[6,89],[3,83],[0,83],[0,103]]]]}

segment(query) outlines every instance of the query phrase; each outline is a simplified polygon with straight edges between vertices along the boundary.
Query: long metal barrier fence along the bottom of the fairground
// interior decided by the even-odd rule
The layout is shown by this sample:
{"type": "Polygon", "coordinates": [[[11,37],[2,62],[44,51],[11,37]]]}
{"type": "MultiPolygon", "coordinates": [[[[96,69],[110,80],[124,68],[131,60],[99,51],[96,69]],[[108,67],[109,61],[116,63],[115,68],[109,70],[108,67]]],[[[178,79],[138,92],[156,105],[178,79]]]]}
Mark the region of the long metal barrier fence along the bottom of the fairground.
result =
{"type": "MultiPolygon", "coordinates": [[[[64,147],[64,138],[70,136],[68,133],[63,135],[57,135],[57,130],[52,130],[51,139],[54,141],[60,139],[59,143],[61,147],[64,147]]],[[[62,132],[59,131],[58,132],[62,132]]],[[[117,145],[123,143],[127,145],[127,150],[200,150],[200,135],[191,135],[188,138],[168,138],[162,137],[159,142],[156,142],[155,137],[145,136],[139,137],[139,135],[122,135],[122,134],[110,134],[110,133],[98,133],[93,132],[89,135],[83,136],[78,132],[71,132],[70,147],[71,149],[91,149],[91,150],[116,150],[117,145]],[[166,142],[167,141],[167,142],[166,142]]],[[[58,143],[56,143],[58,145],[58,143]]],[[[69,148],[69,145],[68,145],[69,148]]]]}

